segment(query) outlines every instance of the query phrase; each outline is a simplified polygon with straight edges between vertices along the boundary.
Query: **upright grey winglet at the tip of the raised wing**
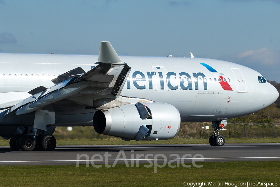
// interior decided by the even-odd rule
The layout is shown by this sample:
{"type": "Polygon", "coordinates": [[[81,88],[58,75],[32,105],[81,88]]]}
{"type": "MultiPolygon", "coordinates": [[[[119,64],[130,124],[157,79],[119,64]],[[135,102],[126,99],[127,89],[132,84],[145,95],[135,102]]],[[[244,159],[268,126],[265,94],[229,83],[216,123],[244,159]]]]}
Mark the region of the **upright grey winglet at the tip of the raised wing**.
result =
{"type": "Polygon", "coordinates": [[[105,64],[124,65],[109,41],[101,41],[98,62],[105,64]]]}

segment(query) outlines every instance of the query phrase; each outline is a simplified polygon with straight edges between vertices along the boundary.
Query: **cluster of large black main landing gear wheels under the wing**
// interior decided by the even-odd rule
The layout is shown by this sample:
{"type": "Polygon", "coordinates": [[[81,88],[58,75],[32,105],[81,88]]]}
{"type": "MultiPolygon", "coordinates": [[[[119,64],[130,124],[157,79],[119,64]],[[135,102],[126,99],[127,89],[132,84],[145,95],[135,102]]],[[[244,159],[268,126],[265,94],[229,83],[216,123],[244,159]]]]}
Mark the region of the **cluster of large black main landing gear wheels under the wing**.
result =
{"type": "Polygon", "coordinates": [[[44,131],[33,128],[30,134],[16,134],[10,139],[10,147],[14,151],[53,151],[56,139],[52,135],[44,135],[44,131]]]}

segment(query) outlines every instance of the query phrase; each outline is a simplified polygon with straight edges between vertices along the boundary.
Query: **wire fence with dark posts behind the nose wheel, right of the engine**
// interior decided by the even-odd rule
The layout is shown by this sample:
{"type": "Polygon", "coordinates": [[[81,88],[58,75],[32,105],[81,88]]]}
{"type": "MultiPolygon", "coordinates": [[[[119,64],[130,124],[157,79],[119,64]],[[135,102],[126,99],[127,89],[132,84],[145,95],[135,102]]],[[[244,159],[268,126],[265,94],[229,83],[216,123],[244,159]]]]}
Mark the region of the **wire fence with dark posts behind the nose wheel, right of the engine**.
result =
{"type": "MultiPolygon", "coordinates": [[[[212,132],[212,124],[181,123],[175,138],[207,139],[212,132]]],[[[225,131],[220,132],[226,138],[279,138],[280,123],[228,123],[225,131]]]]}

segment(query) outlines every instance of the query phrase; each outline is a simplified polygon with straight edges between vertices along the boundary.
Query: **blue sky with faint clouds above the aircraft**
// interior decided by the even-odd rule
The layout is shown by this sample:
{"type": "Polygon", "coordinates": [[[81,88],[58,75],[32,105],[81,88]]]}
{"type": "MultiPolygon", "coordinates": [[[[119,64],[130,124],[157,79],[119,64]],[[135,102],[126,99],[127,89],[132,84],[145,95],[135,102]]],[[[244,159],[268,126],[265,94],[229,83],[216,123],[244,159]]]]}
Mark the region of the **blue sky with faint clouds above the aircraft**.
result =
{"type": "Polygon", "coordinates": [[[0,52],[226,60],[280,82],[280,0],[0,0],[0,52]]]}

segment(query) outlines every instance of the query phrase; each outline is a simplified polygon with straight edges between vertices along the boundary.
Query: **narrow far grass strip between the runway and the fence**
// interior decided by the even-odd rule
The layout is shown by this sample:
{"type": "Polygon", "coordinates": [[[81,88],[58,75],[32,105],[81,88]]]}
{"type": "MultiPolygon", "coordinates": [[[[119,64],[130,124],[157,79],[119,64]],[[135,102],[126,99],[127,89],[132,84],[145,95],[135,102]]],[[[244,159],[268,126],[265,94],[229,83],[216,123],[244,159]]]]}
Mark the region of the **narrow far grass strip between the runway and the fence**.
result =
{"type": "MultiPolygon", "coordinates": [[[[226,143],[280,143],[280,138],[226,138],[226,143]]],[[[209,144],[208,139],[171,139],[161,141],[124,141],[94,139],[63,139],[57,145],[139,145],[139,144],[209,144]]],[[[9,146],[9,140],[0,140],[0,146],[9,146]]]]}

